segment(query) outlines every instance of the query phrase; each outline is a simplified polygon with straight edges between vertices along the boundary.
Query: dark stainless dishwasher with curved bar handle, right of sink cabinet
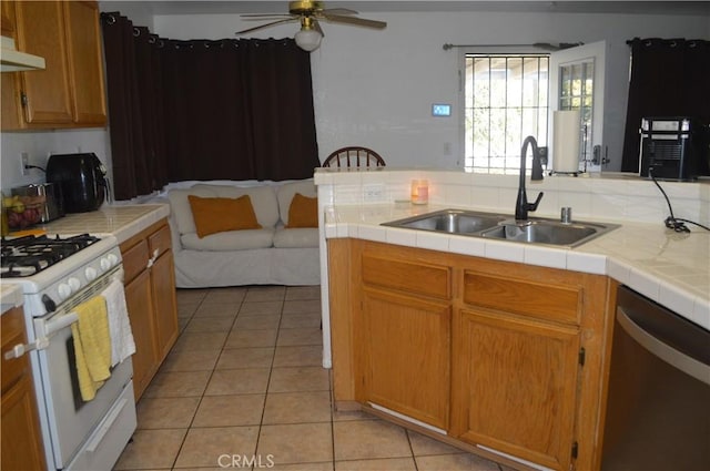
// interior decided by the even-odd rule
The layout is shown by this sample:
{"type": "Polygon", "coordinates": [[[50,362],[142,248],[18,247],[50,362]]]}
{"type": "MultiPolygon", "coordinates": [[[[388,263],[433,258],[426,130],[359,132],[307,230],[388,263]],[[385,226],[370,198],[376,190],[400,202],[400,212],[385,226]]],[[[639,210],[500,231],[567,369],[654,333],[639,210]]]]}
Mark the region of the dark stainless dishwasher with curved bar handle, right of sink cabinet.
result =
{"type": "Polygon", "coordinates": [[[710,332],[619,288],[604,471],[710,470],[710,332]]]}

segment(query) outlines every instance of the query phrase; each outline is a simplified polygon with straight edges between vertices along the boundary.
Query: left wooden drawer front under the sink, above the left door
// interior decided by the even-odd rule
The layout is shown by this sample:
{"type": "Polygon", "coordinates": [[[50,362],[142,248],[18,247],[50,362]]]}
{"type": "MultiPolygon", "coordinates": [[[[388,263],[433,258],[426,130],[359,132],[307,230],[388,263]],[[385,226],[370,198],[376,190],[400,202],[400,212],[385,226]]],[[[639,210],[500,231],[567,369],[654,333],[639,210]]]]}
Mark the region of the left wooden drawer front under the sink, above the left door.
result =
{"type": "Polygon", "coordinates": [[[363,280],[368,285],[449,299],[450,278],[449,267],[363,255],[363,280]]]}

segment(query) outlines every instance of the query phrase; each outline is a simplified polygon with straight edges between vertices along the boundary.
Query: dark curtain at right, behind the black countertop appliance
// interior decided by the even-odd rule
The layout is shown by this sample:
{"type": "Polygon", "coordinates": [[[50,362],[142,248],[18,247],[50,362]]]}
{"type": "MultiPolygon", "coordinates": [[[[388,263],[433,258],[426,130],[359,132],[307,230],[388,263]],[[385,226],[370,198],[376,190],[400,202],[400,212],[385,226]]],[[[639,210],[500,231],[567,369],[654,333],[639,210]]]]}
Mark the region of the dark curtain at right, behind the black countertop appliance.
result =
{"type": "Polygon", "coordinates": [[[639,39],[631,47],[622,172],[638,172],[645,116],[691,116],[710,122],[710,41],[639,39]]]}

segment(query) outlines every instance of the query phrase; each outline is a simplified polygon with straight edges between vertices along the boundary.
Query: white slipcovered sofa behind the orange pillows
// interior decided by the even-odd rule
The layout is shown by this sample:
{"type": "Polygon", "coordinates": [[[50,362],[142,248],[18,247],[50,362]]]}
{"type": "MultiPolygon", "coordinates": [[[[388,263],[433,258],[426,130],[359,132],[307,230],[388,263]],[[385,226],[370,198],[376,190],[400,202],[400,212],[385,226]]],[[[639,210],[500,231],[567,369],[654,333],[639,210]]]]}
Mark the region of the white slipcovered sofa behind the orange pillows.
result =
{"type": "Polygon", "coordinates": [[[243,285],[318,285],[318,229],[286,228],[296,193],[316,196],[313,180],[240,186],[240,182],[197,183],[168,191],[179,288],[243,285]],[[189,195],[237,198],[248,195],[262,228],[199,237],[189,195]]]}

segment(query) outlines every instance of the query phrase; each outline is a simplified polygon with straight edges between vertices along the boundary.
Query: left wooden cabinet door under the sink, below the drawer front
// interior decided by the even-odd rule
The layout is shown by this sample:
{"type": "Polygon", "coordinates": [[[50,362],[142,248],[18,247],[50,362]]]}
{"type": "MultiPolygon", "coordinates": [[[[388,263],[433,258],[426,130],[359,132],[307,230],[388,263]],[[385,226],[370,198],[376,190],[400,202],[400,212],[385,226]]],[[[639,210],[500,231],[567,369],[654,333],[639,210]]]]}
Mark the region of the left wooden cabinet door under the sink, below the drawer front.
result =
{"type": "Polygon", "coordinates": [[[448,429],[450,306],[365,289],[364,399],[448,429]]]}

